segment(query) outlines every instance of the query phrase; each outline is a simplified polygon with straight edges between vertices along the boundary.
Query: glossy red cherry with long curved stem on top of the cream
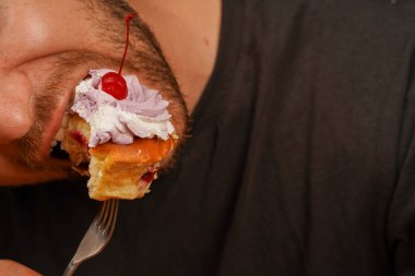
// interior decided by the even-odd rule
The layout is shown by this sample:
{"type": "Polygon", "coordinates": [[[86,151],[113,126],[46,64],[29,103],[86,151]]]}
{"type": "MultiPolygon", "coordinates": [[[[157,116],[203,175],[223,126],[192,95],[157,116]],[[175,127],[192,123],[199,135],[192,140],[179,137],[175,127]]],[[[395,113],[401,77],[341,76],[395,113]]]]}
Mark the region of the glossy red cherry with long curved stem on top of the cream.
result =
{"type": "Polygon", "coordinates": [[[126,60],[126,56],[127,56],[128,40],[129,40],[129,35],[130,35],[130,20],[132,20],[133,17],[135,17],[134,13],[128,14],[124,17],[126,25],[127,25],[126,48],[123,51],[121,65],[120,65],[120,69],[118,70],[118,73],[108,72],[105,75],[103,75],[103,77],[100,79],[102,89],[118,100],[127,98],[127,95],[128,95],[127,83],[126,83],[126,80],[121,75],[121,70],[122,70],[123,61],[126,60]]]}

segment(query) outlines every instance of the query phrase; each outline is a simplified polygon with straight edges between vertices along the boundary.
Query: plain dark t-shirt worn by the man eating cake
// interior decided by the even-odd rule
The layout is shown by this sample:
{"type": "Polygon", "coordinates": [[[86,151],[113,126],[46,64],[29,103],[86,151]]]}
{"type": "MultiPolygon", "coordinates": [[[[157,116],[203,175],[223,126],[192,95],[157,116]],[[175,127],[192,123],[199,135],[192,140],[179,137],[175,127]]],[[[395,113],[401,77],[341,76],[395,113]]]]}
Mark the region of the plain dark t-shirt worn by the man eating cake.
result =
{"type": "MultiPolygon", "coordinates": [[[[176,166],[76,275],[415,275],[415,1],[224,1],[176,166]]],[[[84,181],[0,190],[0,257],[59,275],[84,181]]]]}

